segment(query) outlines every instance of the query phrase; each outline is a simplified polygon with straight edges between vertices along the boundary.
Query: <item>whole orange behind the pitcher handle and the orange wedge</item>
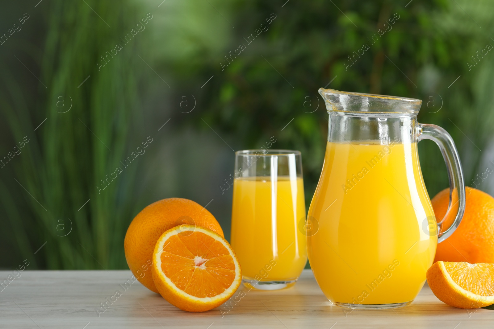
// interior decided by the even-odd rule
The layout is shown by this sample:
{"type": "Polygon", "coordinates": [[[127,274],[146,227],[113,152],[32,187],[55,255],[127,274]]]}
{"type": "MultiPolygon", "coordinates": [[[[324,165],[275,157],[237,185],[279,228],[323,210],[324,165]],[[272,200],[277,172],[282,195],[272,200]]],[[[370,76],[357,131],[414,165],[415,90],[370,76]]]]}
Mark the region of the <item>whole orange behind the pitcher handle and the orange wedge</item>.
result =
{"type": "MultiPolygon", "coordinates": [[[[466,261],[472,264],[494,262],[494,198],[473,187],[467,186],[465,192],[466,205],[463,219],[453,234],[437,245],[434,262],[438,260],[466,261]]],[[[431,201],[439,221],[448,209],[450,189],[442,190],[431,201]]]]}

